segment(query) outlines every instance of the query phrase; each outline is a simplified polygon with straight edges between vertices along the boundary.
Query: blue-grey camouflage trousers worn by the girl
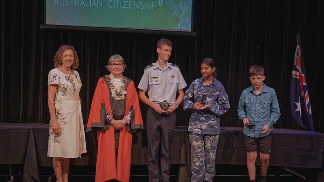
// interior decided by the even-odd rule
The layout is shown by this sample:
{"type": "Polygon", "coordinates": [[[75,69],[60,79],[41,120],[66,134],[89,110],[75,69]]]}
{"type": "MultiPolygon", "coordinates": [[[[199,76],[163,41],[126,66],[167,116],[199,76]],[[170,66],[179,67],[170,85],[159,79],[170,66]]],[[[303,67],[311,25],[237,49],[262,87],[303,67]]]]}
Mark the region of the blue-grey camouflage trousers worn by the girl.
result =
{"type": "Polygon", "coordinates": [[[191,182],[213,181],[218,139],[219,135],[199,135],[189,132],[191,145],[191,182]]]}

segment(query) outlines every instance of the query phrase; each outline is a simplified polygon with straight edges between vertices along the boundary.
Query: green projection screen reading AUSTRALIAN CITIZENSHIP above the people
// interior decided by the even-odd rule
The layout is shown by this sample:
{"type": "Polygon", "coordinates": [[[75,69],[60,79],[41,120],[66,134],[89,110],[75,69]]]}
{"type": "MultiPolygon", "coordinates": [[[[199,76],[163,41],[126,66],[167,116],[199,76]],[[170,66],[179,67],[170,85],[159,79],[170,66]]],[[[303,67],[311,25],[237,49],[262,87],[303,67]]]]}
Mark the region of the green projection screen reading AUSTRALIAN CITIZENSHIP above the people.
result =
{"type": "Polygon", "coordinates": [[[191,31],[192,0],[46,0],[46,24],[191,31]]]}

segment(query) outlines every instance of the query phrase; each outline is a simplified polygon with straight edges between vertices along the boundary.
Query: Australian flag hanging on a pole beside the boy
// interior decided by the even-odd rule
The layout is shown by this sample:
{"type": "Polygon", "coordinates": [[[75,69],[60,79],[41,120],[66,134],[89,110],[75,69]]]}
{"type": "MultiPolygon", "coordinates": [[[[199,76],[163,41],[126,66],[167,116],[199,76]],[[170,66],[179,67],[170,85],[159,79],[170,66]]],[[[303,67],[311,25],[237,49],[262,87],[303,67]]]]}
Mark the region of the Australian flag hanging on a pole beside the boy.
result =
{"type": "Polygon", "coordinates": [[[301,48],[297,44],[290,85],[290,106],[293,119],[307,130],[314,131],[310,95],[306,84],[301,48]]]}

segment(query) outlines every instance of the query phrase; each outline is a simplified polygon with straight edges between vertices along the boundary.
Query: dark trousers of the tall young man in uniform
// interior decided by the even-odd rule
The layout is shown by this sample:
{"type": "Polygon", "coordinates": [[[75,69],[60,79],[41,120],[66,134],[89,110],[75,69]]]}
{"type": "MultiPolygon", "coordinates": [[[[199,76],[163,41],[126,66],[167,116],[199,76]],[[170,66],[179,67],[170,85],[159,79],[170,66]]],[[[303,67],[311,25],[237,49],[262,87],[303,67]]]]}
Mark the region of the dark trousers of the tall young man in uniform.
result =
{"type": "Polygon", "coordinates": [[[170,155],[169,150],[173,139],[175,127],[175,112],[159,114],[152,107],[147,114],[148,135],[148,169],[149,181],[170,181],[170,155]],[[161,147],[161,155],[159,155],[161,147]],[[160,162],[160,163],[159,163],[160,162]],[[160,164],[160,165],[159,165],[160,164]],[[161,170],[161,173],[160,173],[161,170]]]}

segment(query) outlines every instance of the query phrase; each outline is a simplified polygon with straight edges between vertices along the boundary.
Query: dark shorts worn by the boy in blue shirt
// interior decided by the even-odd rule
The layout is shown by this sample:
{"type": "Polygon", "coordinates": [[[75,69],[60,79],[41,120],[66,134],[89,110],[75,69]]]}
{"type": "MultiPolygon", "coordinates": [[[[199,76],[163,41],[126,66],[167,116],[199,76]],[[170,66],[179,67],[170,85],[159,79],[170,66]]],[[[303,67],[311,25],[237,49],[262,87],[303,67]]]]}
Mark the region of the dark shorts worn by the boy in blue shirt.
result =
{"type": "Polygon", "coordinates": [[[262,154],[271,152],[271,133],[265,137],[253,138],[244,135],[244,146],[247,152],[260,151],[262,154]]]}

